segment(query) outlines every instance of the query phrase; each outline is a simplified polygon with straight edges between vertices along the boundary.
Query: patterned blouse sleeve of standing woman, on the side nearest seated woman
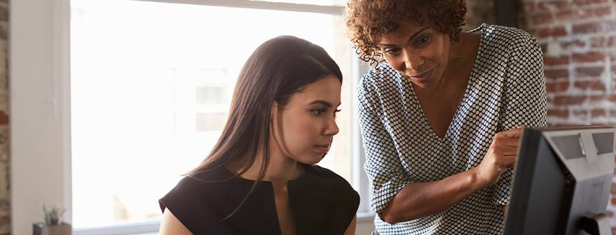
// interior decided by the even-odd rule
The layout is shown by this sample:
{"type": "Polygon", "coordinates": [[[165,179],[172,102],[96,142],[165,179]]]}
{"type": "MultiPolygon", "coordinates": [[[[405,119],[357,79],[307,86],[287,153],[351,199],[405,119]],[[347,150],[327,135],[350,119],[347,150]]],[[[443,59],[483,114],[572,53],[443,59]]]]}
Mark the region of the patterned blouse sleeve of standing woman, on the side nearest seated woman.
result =
{"type": "Polygon", "coordinates": [[[365,149],[364,169],[370,180],[370,205],[381,220],[383,209],[410,181],[402,169],[398,151],[381,118],[378,88],[370,84],[368,73],[358,86],[359,121],[365,149]]]}

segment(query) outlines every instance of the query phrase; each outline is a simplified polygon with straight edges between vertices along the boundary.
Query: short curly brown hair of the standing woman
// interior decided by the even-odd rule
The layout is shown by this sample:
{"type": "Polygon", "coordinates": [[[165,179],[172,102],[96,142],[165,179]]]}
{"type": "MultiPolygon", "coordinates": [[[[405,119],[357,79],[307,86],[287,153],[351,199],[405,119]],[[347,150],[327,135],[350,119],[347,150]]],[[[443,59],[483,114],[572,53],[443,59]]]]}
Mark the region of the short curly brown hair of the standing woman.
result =
{"type": "Polygon", "coordinates": [[[345,8],[347,37],[360,59],[371,65],[383,62],[383,54],[377,47],[380,37],[399,30],[400,21],[405,19],[422,26],[433,23],[455,43],[460,41],[466,19],[466,1],[350,0],[345,8]]]}

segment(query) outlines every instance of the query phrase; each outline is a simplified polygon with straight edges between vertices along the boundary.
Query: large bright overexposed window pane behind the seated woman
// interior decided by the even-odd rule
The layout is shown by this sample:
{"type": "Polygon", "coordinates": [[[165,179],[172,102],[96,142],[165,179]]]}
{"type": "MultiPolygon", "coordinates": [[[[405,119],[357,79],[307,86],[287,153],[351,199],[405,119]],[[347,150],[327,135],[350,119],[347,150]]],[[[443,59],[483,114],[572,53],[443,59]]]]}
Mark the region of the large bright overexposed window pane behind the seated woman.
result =
{"type": "Polygon", "coordinates": [[[217,141],[242,65],[278,35],[323,46],[341,66],[341,131],[320,165],[350,180],[352,48],[343,33],[340,16],[318,13],[71,1],[73,225],[158,219],[158,198],[217,141]]]}

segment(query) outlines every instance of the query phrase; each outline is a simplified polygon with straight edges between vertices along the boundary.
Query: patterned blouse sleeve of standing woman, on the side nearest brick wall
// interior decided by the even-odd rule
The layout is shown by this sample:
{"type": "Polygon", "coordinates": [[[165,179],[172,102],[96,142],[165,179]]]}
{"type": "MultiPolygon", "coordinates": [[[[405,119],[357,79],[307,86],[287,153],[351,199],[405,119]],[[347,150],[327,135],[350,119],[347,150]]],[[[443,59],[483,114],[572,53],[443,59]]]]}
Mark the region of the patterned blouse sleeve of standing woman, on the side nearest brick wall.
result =
{"type": "MultiPolygon", "coordinates": [[[[547,102],[543,55],[541,47],[532,35],[520,32],[512,44],[507,62],[505,93],[502,97],[501,124],[499,131],[518,126],[546,126],[547,102]]],[[[513,187],[513,171],[505,171],[496,183],[494,203],[509,205],[513,187]]]]}

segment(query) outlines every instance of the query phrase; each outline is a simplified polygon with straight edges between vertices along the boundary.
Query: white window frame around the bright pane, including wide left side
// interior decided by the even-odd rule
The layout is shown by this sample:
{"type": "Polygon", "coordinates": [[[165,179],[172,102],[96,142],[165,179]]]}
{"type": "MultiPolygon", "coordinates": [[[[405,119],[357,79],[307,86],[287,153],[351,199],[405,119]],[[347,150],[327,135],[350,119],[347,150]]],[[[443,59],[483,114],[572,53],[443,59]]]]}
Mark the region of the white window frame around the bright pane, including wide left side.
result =
{"type": "MultiPolygon", "coordinates": [[[[248,0],[132,0],[341,15],[343,6],[248,0]]],[[[10,196],[12,234],[29,234],[43,220],[42,205],[66,208],[72,222],[70,0],[19,0],[9,4],[10,196]],[[53,2],[53,3],[52,3],[53,2]]],[[[365,156],[356,117],[356,85],[370,67],[351,57],[352,185],[361,196],[358,222],[371,221],[365,156]]],[[[372,223],[372,222],[370,222],[372,223]]],[[[75,230],[74,234],[157,232],[160,221],[75,230]]]]}

